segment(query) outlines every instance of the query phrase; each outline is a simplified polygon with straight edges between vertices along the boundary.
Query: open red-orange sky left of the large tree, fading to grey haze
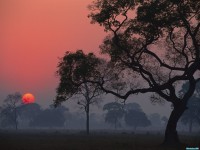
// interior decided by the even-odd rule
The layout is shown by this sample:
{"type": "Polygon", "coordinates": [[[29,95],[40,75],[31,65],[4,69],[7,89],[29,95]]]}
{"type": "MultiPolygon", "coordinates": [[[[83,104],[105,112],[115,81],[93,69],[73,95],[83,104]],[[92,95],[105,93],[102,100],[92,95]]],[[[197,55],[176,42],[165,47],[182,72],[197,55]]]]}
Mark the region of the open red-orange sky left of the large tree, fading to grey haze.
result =
{"type": "MultiPolygon", "coordinates": [[[[106,35],[91,25],[87,5],[92,0],[0,0],[0,101],[16,91],[52,103],[58,79],[58,57],[66,50],[98,53],[106,35]]],[[[146,104],[149,110],[164,107],[146,104]]],[[[136,101],[135,101],[136,102],[136,101]]]]}

